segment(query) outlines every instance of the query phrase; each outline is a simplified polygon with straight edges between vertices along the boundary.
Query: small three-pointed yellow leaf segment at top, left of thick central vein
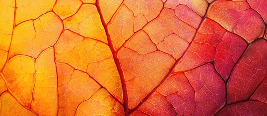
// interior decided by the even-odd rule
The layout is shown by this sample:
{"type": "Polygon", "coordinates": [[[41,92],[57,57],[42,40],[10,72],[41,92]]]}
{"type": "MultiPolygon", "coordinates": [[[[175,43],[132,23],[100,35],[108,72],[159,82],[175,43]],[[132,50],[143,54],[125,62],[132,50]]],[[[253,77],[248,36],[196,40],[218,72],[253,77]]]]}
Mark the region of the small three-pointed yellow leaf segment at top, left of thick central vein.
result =
{"type": "Polygon", "coordinates": [[[95,5],[83,4],[73,16],[63,20],[65,29],[107,43],[107,36],[95,5]]]}

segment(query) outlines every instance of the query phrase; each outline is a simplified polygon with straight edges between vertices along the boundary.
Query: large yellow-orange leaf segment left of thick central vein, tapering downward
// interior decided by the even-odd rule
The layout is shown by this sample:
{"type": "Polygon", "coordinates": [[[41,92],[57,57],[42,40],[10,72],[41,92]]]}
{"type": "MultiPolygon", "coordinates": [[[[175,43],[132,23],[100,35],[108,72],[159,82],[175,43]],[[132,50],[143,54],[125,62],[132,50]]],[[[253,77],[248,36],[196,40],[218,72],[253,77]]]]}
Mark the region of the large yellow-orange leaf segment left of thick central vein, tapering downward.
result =
{"type": "Polygon", "coordinates": [[[64,30],[55,44],[55,54],[58,63],[87,72],[122,101],[119,73],[107,44],[64,30]]]}

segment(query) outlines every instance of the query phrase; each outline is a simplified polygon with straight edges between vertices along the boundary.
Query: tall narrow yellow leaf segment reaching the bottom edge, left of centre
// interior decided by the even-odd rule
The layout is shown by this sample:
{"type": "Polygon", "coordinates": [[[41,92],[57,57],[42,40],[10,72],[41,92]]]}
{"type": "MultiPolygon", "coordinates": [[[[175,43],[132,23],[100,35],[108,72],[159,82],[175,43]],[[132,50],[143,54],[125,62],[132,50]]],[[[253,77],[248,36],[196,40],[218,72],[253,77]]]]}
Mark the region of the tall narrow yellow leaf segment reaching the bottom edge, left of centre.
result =
{"type": "Polygon", "coordinates": [[[31,108],[40,116],[57,114],[57,74],[54,50],[50,47],[36,60],[36,77],[31,108]]]}

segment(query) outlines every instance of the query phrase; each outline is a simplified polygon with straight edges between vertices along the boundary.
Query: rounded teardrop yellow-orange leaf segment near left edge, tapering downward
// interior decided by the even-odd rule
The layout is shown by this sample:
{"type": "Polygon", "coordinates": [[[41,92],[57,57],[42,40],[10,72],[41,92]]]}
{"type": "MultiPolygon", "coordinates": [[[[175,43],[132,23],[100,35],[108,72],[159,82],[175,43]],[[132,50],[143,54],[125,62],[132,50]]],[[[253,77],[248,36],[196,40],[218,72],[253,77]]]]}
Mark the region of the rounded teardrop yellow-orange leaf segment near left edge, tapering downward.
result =
{"type": "Polygon", "coordinates": [[[23,55],[13,57],[3,68],[3,78],[10,93],[25,107],[32,101],[35,69],[35,60],[23,55]]]}

